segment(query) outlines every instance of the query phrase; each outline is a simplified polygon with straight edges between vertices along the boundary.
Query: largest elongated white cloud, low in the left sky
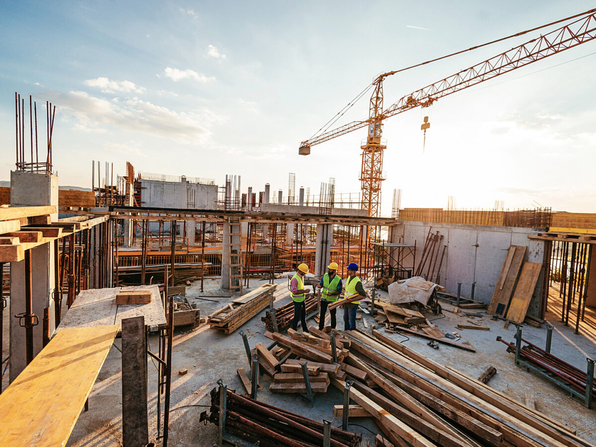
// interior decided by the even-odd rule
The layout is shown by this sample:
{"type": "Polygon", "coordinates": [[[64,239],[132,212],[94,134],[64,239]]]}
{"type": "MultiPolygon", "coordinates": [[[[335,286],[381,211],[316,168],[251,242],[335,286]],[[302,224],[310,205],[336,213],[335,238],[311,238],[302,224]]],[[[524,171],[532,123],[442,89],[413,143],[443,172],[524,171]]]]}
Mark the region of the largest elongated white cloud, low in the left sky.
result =
{"type": "Polygon", "coordinates": [[[210,110],[178,112],[138,98],[112,103],[82,91],[50,91],[46,97],[65,117],[77,120],[77,129],[88,132],[113,127],[181,142],[202,142],[210,135],[207,127],[216,122],[216,114],[210,110]]]}

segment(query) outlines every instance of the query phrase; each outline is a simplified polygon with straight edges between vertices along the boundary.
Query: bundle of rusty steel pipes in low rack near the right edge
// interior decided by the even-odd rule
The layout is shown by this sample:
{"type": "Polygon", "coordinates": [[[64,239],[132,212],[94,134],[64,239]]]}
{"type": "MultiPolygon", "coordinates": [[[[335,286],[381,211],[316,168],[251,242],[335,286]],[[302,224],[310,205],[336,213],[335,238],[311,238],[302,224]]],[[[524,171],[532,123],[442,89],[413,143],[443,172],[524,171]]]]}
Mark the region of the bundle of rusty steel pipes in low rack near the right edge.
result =
{"type": "MultiPolygon", "coordinates": [[[[499,339],[500,342],[507,344],[507,352],[515,353],[516,345],[513,343],[505,342],[505,340],[499,339]]],[[[577,388],[582,392],[586,392],[586,386],[588,383],[588,374],[585,371],[578,370],[573,365],[564,362],[560,358],[552,355],[550,352],[539,348],[535,344],[522,339],[526,346],[522,346],[520,349],[520,355],[522,355],[527,361],[535,364],[540,368],[544,368],[549,373],[556,375],[558,378],[569,383],[571,386],[577,388]]],[[[596,399],[596,384],[592,386],[592,396],[596,399]]]]}

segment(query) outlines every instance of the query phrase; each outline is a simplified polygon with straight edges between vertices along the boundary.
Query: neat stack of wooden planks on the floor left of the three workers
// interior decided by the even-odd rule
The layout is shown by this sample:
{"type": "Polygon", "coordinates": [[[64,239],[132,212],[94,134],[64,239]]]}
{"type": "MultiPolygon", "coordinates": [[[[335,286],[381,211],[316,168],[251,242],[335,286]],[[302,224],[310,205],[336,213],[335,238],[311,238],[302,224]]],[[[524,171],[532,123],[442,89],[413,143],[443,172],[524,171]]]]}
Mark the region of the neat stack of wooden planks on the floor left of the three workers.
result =
{"type": "Polygon", "coordinates": [[[269,305],[275,289],[277,284],[263,284],[207,316],[207,322],[231,334],[269,305]]]}

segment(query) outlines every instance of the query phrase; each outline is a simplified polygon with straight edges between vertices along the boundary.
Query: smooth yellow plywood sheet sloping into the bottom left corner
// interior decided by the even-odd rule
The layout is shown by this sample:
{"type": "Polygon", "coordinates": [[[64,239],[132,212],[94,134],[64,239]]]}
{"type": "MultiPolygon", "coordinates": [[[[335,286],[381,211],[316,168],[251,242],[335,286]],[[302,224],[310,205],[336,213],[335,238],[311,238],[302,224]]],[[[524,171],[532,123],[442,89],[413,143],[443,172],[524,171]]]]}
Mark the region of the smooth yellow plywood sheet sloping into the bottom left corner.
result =
{"type": "Polygon", "coordinates": [[[0,445],[66,445],[119,328],[56,334],[0,395],[0,445]]]}

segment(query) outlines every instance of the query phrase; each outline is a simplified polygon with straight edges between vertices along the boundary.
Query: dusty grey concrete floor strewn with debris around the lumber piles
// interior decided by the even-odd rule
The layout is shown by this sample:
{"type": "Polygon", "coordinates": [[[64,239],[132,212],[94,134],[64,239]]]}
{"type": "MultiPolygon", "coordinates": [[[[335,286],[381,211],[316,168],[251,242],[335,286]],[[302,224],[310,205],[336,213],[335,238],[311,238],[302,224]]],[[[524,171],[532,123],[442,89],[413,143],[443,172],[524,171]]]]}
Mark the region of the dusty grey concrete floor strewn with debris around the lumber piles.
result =
{"type": "MultiPolygon", "coordinates": [[[[265,284],[266,281],[251,280],[250,288],[265,284]]],[[[278,284],[276,294],[283,292],[287,287],[287,279],[275,280],[278,284]]],[[[201,316],[221,308],[232,298],[222,297],[226,294],[220,288],[221,278],[208,278],[204,281],[204,292],[200,291],[200,282],[195,281],[187,287],[187,298],[191,303],[196,303],[201,310],[201,316]],[[201,300],[200,297],[209,299],[201,300]]],[[[556,285],[556,284],[555,284],[556,285]]],[[[377,296],[387,297],[383,291],[378,291],[377,296]]],[[[275,302],[275,307],[284,305],[290,300],[289,297],[275,302]]],[[[442,302],[446,309],[453,309],[449,303],[442,302]]],[[[551,299],[546,316],[547,322],[555,327],[552,336],[552,353],[564,359],[572,365],[584,370],[586,357],[596,357],[596,328],[593,323],[583,322],[578,335],[573,334],[573,325],[566,327],[560,321],[560,306],[558,302],[558,288],[551,287],[551,299]]],[[[271,340],[263,336],[265,327],[260,317],[265,311],[252,318],[241,328],[249,336],[250,346],[262,342],[266,346],[271,340]]],[[[477,312],[477,310],[470,310],[477,312]]],[[[586,316],[589,312],[589,319],[594,321],[594,311],[586,309],[586,316]]],[[[427,340],[401,334],[388,334],[395,340],[406,344],[411,349],[432,358],[443,365],[457,368],[472,377],[479,377],[489,366],[496,368],[497,373],[489,382],[489,385],[496,390],[510,395],[514,399],[523,402],[524,393],[532,393],[535,396],[536,408],[544,414],[555,418],[569,427],[577,430],[579,436],[596,443],[596,417],[594,409],[585,408],[581,403],[574,401],[563,390],[558,389],[550,381],[535,373],[529,373],[514,364],[514,354],[506,352],[506,346],[496,341],[497,336],[513,342],[516,327],[510,325],[504,329],[503,321],[495,321],[488,316],[476,318],[482,325],[491,329],[489,331],[459,330],[456,325],[465,323],[469,316],[460,316],[452,312],[443,312],[445,316],[435,316],[428,312],[427,316],[443,331],[457,331],[462,340],[469,340],[476,352],[467,352],[454,347],[440,345],[439,349],[427,346],[427,340]]],[[[7,322],[10,316],[7,309],[4,311],[4,334],[5,346],[7,346],[8,327],[7,322]]],[[[343,311],[337,312],[338,328],[343,329],[343,311]]],[[[313,319],[309,324],[316,324],[313,319]]],[[[575,325],[575,314],[573,314],[575,325]]],[[[373,325],[378,323],[370,315],[362,314],[362,319],[357,320],[358,328],[370,331],[373,325]],[[363,319],[366,319],[368,328],[365,328],[363,319]]],[[[383,329],[381,328],[381,331],[383,329]]],[[[216,387],[216,381],[222,379],[229,389],[235,389],[244,393],[240,379],[236,373],[237,368],[249,369],[246,352],[239,330],[226,336],[222,331],[210,328],[208,324],[200,325],[191,330],[190,327],[176,328],[174,335],[174,352],[172,367],[172,394],[170,413],[170,437],[169,445],[172,446],[212,446],[216,443],[217,427],[214,424],[204,425],[199,423],[201,412],[208,409],[210,403],[209,393],[216,387]],[[179,375],[179,370],[187,369],[188,373],[179,375]]],[[[545,325],[542,328],[523,326],[523,337],[538,346],[544,346],[547,330],[545,325]]],[[[460,341],[460,342],[461,342],[460,341]]],[[[114,344],[120,347],[120,339],[114,344]]],[[[150,349],[157,352],[157,337],[150,337],[150,349]]],[[[7,353],[5,353],[7,355],[7,353]]],[[[82,412],[76,423],[75,429],[70,436],[67,446],[69,447],[90,447],[90,446],[119,446],[122,445],[122,382],[120,380],[122,371],[121,357],[119,350],[113,348],[97,378],[95,386],[89,397],[89,411],[82,412]]],[[[332,420],[334,426],[340,426],[342,421],[333,417],[333,406],[342,403],[342,393],[333,386],[329,387],[327,393],[316,394],[315,403],[312,405],[300,395],[274,394],[269,392],[270,379],[266,375],[261,376],[262,389],[259,390],[257,398],[264,402],[272,403],[281,408],[306,415],[315,420],[332,420]]],[[[4,379],[4,387],[8,385],[7,377],[4,379]]],[[[149,421],[150,440],[155,439],[157,434],[157,369],[150,361],[148,364],[148,390],[149,390],[149,421]]],[[[162,396],[163,398],[163,396],[162,396]]],[[[163,405],[163,399],[162,399],[163,405]]],[[[377,426],[370,418],[350,418],[349,430],[362,433],[362,445],[374,445],[374,434],[380,433],[377,426]],[[368,431],[370,430],[370,431],[368,431]]],[[[247,445],[239,442],[240,445],[247,445]]],[[[160,442],[156,445],[161,445],[160,442]]]]}

